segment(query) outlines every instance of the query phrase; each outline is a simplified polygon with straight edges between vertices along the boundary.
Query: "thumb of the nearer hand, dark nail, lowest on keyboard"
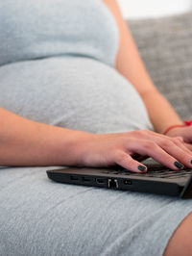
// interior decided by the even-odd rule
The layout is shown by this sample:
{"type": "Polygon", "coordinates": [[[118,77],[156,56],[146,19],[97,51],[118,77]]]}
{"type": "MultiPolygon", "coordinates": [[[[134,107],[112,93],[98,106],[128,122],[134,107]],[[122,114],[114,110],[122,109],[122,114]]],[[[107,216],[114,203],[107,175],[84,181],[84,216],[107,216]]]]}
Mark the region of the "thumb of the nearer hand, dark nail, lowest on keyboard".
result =
{"type": "Polygon", "coordinates": [[[147,166],[133,160],[132,157],[124,151],[118,151],[114,158],[116,164],[132,172],[145,173],[147,171],[147,166]]]}

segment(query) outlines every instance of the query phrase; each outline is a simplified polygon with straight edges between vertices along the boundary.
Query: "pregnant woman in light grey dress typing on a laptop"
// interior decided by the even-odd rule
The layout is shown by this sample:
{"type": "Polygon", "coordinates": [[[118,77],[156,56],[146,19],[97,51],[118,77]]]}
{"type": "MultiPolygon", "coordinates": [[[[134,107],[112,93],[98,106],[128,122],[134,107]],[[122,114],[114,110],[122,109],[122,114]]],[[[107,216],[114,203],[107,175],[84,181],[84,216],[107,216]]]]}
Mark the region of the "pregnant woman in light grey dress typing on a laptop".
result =
{"type": "Polygon", "coordinates": [[[192,126],[156,90],[115,0],[7,0],[0,21],[0,254],[189,255],[190,200],[46,178],[43,166],[143,173],[149,156],[192,167],[192,126]]]}

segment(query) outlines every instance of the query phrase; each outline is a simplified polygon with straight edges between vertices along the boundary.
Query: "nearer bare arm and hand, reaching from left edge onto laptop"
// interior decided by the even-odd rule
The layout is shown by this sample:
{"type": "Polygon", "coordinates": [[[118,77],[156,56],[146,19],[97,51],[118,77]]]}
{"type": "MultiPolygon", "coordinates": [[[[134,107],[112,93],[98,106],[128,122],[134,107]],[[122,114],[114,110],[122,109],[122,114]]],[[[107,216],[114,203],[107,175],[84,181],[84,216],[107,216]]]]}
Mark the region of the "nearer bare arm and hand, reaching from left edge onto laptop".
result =
{"type": "Polygon", "coordinates": [[[91,134],[38,123],[0,108],[0,166],[118,164],[132,171],[146,171],[143,164],[132,159],[135,153],[151,156],[173,169],[182,166],[176,164],[177,160],[191,167],[191,154],[179,139],[147,130],[91,134]]]}

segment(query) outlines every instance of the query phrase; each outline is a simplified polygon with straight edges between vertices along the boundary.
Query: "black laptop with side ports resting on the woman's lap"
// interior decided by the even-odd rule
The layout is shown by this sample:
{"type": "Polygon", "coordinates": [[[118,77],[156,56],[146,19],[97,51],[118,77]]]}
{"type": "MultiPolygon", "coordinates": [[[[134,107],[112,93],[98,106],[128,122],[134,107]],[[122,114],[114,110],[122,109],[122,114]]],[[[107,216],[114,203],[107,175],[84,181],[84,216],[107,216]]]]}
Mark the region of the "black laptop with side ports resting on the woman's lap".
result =
{"type": "Polygon", "coordinates": [[[67,184],[100,187],[132,192],[153,192],[192,198],[192,169],[172,170],[152,158],[142,162],[146,173],[135,173],[122,166],[63,167],[49,169],[50,179],[67,184]]]}

